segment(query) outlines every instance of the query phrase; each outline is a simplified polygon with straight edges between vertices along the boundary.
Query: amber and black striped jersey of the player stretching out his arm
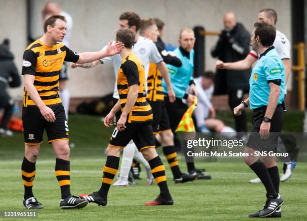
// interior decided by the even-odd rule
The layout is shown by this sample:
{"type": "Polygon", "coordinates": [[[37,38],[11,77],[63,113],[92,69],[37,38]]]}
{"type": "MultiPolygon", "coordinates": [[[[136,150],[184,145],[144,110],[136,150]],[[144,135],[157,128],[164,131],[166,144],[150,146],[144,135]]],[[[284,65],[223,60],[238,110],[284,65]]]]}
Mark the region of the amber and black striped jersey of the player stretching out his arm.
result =
{"type": "MultiPolygon", "coordinates": [[[[34,86],[46,105],[61,103],[59,96],[59,76],[64,61],[77,62],[79,55],[63,44],[52,47],[39,39],[24,52],[22,75],[35,75],[34,86]]],[[[24,106],[35,105],[24,89],[24,106]]]]}

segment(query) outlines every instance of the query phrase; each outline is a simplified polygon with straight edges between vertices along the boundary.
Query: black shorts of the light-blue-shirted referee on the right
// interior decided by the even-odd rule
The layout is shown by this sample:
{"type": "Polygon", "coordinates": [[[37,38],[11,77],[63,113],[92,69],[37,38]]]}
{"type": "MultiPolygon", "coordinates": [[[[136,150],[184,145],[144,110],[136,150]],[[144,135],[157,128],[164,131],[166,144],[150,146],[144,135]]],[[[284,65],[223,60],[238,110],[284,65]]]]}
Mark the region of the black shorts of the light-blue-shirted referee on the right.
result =
{"type": "Polygon", "coordinates": [[[276,152],[277,140],[280,136],[282,124],[283,124],[283,108],[282,105],[277,105],[273,117],[271,119],[269,138],[263,140],[260,138],[259,131],[260,125],[263,122],[266,106],[254,109],[252,116],[252,130],[248,138],[247,147],[253,148],[259,151],[274,151],[276,152]]]}

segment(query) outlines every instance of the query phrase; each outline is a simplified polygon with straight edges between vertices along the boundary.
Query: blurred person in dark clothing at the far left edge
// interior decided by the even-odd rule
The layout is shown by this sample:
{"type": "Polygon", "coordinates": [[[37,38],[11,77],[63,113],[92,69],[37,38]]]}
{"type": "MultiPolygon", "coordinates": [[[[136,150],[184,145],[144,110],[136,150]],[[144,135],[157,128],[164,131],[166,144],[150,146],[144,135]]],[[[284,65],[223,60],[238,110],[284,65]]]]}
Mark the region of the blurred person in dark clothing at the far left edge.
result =
{"type": "Polygon", "coordinates": [[[4,109],[0,123],[0,135],[12,136],[8,123],[13,114],[14,100],[8,93],[9,87],[19,87],[21,84],[19,72],[14,64],[14,55],[10,52],[10,41],[5,39],[0,45],[0,109],[4,109]]]}

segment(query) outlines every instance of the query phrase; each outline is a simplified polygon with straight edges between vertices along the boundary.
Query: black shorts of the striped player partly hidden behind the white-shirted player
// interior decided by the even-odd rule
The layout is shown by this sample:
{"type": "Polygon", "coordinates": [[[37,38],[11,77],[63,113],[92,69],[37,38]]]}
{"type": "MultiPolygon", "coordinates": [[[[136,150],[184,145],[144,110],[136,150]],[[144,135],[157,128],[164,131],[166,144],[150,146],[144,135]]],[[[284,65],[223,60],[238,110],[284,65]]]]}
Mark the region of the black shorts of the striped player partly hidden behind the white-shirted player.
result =
{"type": "Polygon", "coordinates": [[[154,134],[170,130],[170,121],[164,101],[149,101],[154,119],[151,122],[152,131],[154,134]]]}

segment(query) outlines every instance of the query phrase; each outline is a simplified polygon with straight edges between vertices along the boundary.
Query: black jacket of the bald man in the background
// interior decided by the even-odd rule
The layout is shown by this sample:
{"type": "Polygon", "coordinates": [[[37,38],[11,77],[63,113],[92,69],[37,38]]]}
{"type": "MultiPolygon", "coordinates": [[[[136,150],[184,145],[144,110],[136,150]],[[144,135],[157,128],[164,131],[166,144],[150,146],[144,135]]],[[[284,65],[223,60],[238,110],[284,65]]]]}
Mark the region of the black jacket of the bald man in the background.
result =
{"type": "MultiPolygon", "coordinates": [[[[232,31],[222,31],[216,46],[211,51],[211,55],[223,62],[237,62],[245,59],[248,55],[249,45],[249,32],[245,30],[243,25],[237,23],[232,31]]],[[[250,69],[244,71],[217,70],[214,94],[226,94],[236,89],[248,92],[250,74],[250,69]]]]}

